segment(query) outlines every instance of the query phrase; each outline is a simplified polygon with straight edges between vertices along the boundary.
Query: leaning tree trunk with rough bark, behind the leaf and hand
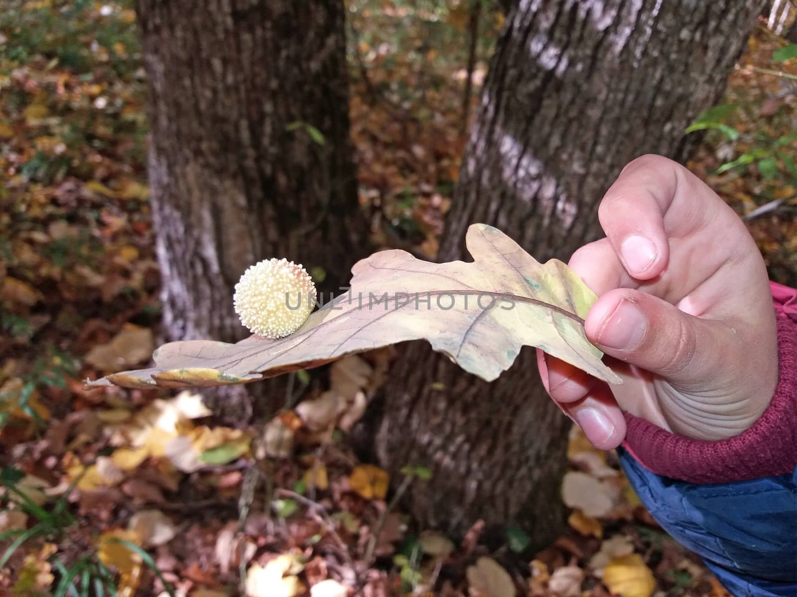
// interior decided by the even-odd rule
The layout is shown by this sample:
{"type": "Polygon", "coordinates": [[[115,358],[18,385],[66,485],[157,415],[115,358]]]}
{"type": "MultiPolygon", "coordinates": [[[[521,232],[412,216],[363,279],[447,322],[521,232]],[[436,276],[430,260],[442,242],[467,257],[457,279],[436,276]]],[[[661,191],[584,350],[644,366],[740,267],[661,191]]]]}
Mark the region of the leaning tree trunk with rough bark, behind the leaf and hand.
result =
{"type": "MultiPolygon", "coordinates": [[[[541,261],[602,236],[597,208],[640,154],[683,161],[683,131],[716,103],[760,10],[756,0],[525,0],[508,19],[481,97],[440,259],[493,224],[541,261]]],[[[544,394],[532,349],[492,384],[429,345],[408,345],[385,390],[377,454],[426,463],[410,508],[461,533],[481,518],[556,535],[570,421],[544,394]],[[441,383],[442,382],[442,383],[441,383]]]]}

